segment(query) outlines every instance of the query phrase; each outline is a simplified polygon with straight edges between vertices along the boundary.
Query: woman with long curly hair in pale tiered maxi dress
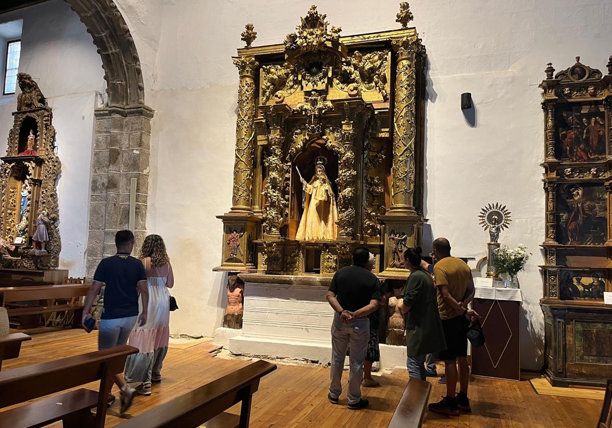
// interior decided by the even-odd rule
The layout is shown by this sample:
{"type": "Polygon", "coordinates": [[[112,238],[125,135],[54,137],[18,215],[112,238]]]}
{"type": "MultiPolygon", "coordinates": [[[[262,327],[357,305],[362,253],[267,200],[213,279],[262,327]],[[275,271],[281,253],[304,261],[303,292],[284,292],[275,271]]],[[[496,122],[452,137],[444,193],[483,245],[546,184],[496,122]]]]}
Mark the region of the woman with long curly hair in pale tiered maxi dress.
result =
{"type": "MultiPolygon", "coordinates": [[[[125,382],[140,383],[136,392],[151,395],[151,383],[161,382],[162,362],[168,352],[170,339],[170,292],[174,286],[172,265],[166,246],[159,235],[144,238],[140,253],[149,286],[147,322],[130,333],[129,344],[138,348],[137,354],[127,357],[125,382]]],[[[140,301],[142,311],[142,301],[140,301]]]]}

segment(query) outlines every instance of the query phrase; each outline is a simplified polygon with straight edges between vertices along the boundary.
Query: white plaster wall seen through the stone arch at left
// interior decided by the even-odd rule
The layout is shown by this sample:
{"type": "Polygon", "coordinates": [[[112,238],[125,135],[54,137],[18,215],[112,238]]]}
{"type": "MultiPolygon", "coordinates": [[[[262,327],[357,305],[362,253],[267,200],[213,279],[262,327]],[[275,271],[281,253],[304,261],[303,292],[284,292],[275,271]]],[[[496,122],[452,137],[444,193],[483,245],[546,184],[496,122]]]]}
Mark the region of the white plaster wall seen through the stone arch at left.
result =
{"type": "MultiPolygon", "coordinates": [[[[72,276],[84,276],[95,92],[105,87],[102,59],[84,24],[62,0],[0,15],[0,23],[13,20],[23,20],[19,71],[34,78],[53,109],[62,162],[59,267],[72,276]]],[[[1,74],[4,78],[3,70],[1,74]]],[[[17,99],[2,97],[0,102],[0,153],[4,156],[17,99]]]]}

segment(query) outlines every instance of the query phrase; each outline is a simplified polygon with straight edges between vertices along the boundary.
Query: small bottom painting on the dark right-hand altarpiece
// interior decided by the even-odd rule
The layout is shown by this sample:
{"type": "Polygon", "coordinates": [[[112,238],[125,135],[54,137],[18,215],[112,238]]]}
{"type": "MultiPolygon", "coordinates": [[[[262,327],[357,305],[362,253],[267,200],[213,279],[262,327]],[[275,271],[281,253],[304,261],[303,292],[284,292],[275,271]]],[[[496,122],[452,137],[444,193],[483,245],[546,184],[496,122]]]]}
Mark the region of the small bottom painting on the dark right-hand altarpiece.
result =
{"type": "Polygon", "coordinates": [[[559,299],[603,300],[606,290],[603,269],[559,270],[559,299]]]}

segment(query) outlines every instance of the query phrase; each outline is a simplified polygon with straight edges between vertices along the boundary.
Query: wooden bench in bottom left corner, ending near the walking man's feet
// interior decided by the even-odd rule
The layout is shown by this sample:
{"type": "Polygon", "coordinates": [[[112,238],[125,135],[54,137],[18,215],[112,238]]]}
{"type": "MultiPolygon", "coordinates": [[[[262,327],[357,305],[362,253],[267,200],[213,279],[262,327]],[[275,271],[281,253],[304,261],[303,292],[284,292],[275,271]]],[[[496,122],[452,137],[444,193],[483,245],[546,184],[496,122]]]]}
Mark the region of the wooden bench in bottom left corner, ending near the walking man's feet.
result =
{"type": "Polygon", "coordinates": [[[2,411],[0,428],[42,427],[59,420],[64,428],[102,428],[113,386],[111,376],[123,372],[127,356],[137,352],[135,347],[122,345],[0,372],[2,408],[100,381],[97,392],[81,388],[2,411]]]}

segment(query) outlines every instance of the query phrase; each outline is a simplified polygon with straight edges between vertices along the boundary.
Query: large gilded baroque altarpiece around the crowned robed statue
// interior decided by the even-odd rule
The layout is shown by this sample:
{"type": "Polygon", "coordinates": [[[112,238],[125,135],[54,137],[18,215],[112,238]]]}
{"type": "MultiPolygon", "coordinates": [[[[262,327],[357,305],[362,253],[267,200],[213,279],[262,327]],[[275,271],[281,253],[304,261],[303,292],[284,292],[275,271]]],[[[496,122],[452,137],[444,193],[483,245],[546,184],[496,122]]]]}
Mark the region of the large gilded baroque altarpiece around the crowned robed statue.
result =
{"type": "Polygon", "coordinates": [[[403,28],[344,37],[312,6],[283,43],[257,47],[246,26],[233,58],[233,206],[218,216],[215,270],[329,276],[367,246],[379,276],[408,275],[401,253],[420,244],[425,221],[425,47],[411,18],[403,4],[403,28]],[[321,207],[308,202],[316,175],[321,209],[337,211],[333,236],[298,238],[321,207]]]}

